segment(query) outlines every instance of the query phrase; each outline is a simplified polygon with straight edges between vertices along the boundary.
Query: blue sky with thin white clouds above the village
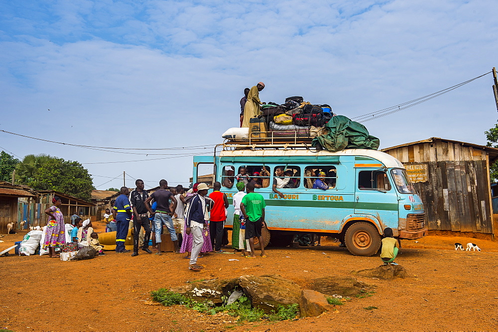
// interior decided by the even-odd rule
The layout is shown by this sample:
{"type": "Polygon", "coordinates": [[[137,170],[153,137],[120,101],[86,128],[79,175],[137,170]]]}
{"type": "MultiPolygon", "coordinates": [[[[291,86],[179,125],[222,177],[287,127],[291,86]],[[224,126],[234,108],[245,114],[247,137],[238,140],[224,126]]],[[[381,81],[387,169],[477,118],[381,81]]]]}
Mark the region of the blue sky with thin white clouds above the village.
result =
{"type": "MultiPolygon", "coordinates": [[[[188,186],[192,155],[239,126],[245,88],[262,81],[262,101],[303,96],[350,118],[398,105],[498,66],[497,12],[494,0],[1,1],[0,129],[202,147],[114,153],[0,132],[0,150],[79,161],[97,189],[121,187],[123,171],[129,187],[188,186]]],[[[429,137],[485,145],[498,118],[492,85],[488,74],[363,124],[380,148],[429,137]]]]}

